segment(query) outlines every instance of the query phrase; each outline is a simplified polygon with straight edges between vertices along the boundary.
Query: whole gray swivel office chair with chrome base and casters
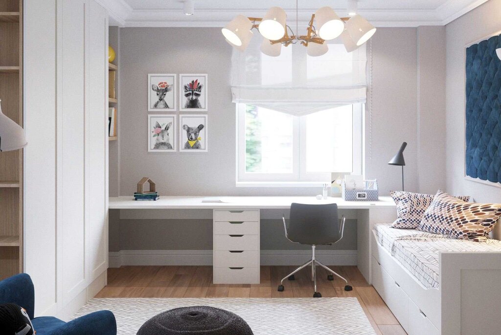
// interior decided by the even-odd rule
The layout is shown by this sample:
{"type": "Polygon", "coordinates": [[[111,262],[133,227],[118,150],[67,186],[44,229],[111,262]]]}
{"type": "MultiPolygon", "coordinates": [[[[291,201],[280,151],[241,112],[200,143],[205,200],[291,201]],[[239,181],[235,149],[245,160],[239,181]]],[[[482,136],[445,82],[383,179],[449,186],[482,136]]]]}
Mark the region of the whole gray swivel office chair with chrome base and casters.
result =
{"type": "Polygon", "coordinates": [[[332,245],[333,243],[336,243],[341,238],[343,238],[346,218],[343,215],[343,217],[341,218],[341,224],[339,223],[338,205],[336,203],[292,203],[289,228],[285,223],[285,216],[283,216],[282,219],[284,220],[284,229],[287,239],[289,239],[291,242],[311,245],[312,259],[308,260],[288,276],[284,277],[280,282],[279,292],[282,292],[284,290],[285,279],[294,280],[294,274],[310,264],[312,265],[312,280],[315,286],[313,297],[322,297],[322,294],[320,292],[317,292],[316,265],[320,265],[327,271],[332,273],[327,276],[328,280],[334,280],[333,274],[337,275],[346,282],[345,291],[351,291],[353,288],[348,285],[348,280],[346,280],[344,277],[334,272],[315,258],[315,248],[317,245],[332,245]]]}

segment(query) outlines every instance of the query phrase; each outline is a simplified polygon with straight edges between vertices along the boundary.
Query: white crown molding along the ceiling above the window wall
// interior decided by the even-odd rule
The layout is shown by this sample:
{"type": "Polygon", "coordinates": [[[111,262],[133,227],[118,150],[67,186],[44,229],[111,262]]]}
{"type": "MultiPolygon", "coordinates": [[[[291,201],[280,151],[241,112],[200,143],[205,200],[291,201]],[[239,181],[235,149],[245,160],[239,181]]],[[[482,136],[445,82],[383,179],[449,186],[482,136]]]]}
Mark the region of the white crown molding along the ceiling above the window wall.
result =
{"type": "MultiPolygon", "coordinates": [[[[263,16],[268,8],[195,8],[195,15],[186,16],[179,9],[134,9],[125,0],[96,0],[108,9],[110,24],[122,27],[222,27],[237,14],[263,16]]],[[[445,25],[487,0],[447,0],[438,8],[359,9],[366,19],[377,27],[416,27],[445,25]]],[[[296,8],[284,8],[289,24],[295,27],[296,8]]],[[[318,8],[301,8],[299,24],[308,24],[311,14],[318,8]]],[[[341,15],[346,8],[333,8],[341,15]]]]}

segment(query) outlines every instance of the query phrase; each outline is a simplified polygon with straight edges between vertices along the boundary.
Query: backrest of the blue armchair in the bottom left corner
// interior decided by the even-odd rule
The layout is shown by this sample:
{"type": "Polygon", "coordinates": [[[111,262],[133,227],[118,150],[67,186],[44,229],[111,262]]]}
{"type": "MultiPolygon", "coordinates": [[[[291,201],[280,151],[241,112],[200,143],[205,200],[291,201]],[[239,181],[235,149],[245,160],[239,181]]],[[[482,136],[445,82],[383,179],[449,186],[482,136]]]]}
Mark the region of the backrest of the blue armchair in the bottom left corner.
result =
{"type": "Polygon", "coordinates": [[[0,304],[8,302],[25,308],[30,319],[33,319],[35,287],[28,274],[20,273],[0,281],[0,304]]]}

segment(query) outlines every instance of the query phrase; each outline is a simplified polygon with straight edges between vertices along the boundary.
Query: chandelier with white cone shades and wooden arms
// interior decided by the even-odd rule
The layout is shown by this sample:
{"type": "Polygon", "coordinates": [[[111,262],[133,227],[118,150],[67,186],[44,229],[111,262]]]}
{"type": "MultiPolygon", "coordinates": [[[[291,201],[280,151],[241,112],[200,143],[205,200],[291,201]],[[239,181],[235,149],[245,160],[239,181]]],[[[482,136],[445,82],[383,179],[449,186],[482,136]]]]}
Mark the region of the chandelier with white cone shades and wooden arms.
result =
{"type": "Polygon", "coordinates": [[[298,35],[298,1],[296,0],[296,33],[287,24],[287,14],[281,7],[271,7],[263,17],[237,15],[221,29],[226,41],[243,51],[253,37],[252,29],[258,29],[264,37],[261,51],[269,56],[279,56],[282,45],[300,42],[307,47],[310,56],[321,56],[329,49],[326,41],[341,36],[346,51],[356,50],[368,41],[376,28],[358,15],[357,1],[348,1],[349,17],[339,17],[329,6],[312,14],[306,34],[298,35]]]}

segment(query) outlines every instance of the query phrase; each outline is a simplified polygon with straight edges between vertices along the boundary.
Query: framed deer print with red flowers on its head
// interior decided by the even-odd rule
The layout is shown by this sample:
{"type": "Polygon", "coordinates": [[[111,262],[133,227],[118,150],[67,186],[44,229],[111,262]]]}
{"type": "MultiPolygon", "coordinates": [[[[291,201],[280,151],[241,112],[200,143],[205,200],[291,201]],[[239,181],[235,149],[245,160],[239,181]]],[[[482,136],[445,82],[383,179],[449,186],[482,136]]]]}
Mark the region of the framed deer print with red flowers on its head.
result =
{"type": "Polygon", "coordinates": [[[148,74],[148,111],[176,110],[175,90],[175,74],[148,74]]]}

